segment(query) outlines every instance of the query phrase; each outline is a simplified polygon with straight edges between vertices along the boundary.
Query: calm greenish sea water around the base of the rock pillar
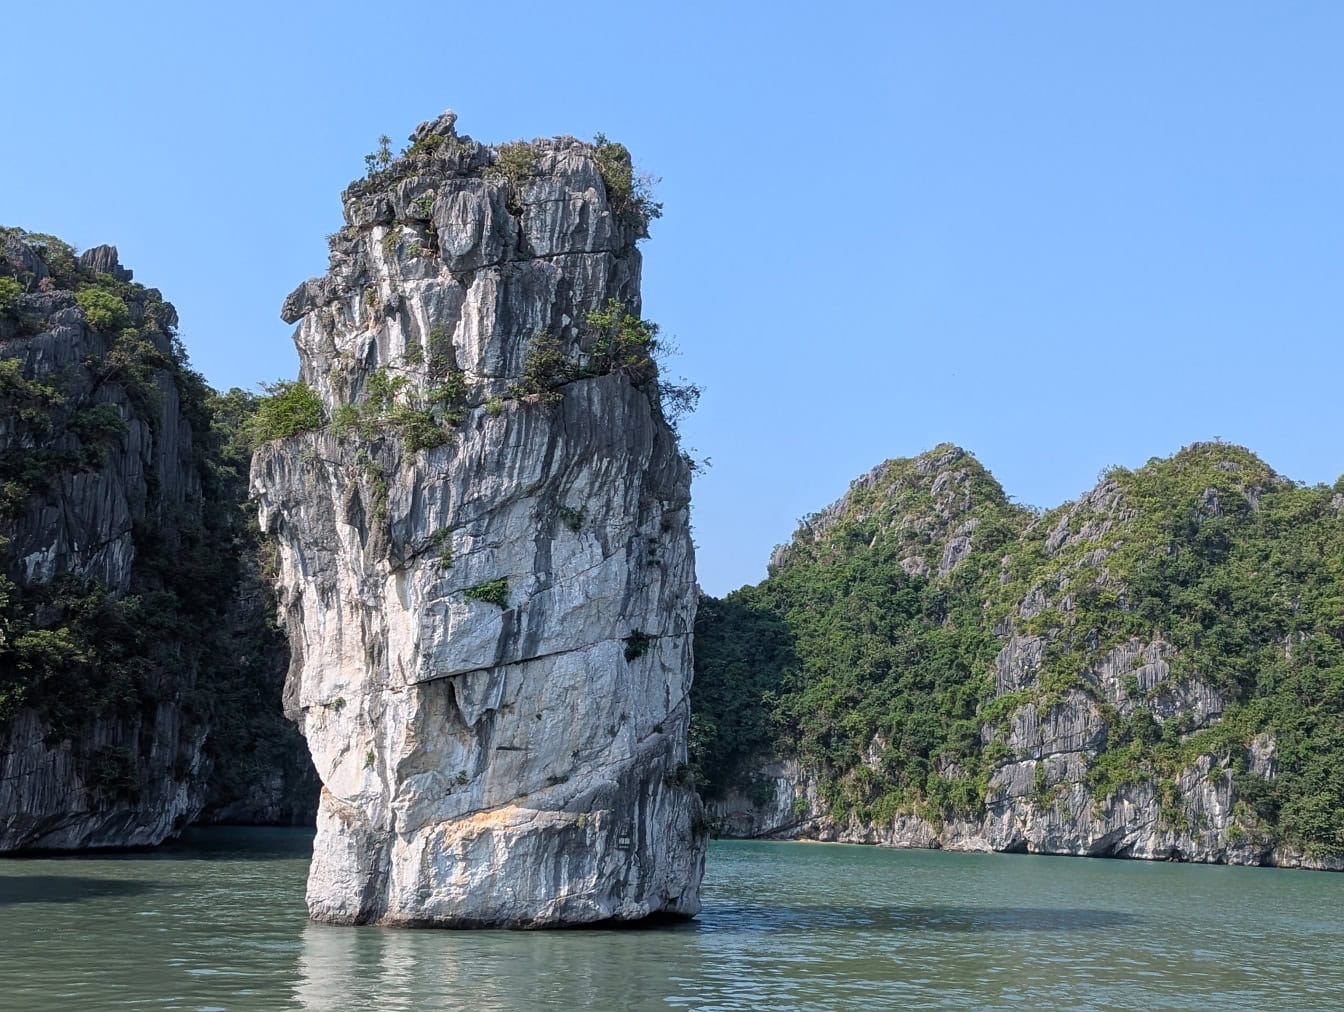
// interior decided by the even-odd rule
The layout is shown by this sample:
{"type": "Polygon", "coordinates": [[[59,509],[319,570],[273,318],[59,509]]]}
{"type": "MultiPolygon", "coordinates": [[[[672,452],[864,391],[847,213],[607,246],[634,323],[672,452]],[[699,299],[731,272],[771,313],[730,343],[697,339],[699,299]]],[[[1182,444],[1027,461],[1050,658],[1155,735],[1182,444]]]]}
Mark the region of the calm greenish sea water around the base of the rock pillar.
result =
{"type": "Polygon", "coordinates": [[[306,921],[310,835],[0,861],[0,1008],[1341,1008],[1344,875],[715,843],[645,930],[306,921]]]}

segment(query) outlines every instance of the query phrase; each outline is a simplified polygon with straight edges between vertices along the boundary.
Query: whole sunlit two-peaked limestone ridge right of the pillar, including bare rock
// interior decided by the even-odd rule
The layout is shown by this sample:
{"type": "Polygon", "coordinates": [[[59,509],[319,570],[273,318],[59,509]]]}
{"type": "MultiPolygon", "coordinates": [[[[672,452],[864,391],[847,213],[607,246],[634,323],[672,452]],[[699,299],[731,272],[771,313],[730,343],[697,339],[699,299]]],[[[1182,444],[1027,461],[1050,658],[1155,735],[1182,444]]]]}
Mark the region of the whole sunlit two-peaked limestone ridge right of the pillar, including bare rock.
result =
{"type": "Polygon", "coordinates": [[[1222,442],[1040,515],[879,465],[702,603],[720,832],[1341,867],[1341,508],[1222,442]]]}

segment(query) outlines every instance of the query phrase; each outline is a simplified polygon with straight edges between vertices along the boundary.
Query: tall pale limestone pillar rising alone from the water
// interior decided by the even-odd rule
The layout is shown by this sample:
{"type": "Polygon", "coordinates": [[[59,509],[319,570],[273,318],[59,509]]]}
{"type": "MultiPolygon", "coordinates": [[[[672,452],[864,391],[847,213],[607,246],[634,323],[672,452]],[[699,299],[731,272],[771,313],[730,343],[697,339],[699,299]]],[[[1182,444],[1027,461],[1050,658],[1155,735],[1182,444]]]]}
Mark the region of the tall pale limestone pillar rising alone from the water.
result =
{"type": "Polygon", "coordinates": [[[689,470],[590,321],[637,316],[646,218],[614,145],[454,118],[344,194],[331,273],[285,302],[336,423],[253,462],[323,781],[309,911],[694,915],[689,470]]]}

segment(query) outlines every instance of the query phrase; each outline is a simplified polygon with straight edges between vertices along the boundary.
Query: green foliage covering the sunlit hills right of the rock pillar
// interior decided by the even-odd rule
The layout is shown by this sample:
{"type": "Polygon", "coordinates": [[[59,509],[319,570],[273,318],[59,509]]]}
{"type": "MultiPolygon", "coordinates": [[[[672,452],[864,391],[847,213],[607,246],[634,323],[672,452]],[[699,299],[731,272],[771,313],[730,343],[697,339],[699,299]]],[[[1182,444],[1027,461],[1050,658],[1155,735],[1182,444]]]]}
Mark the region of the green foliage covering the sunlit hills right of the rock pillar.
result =
{"type": "Polygon", "coordinates": [[[888,461],[805,519],[769,579],[703,602],[692,750],[711,790],[742,786],[741,761],[773,750],[820,774],[837,816],[976,814],[1009,758],[1004,719],[1081,692],[1109,724],[1098,798],[1211,754],[1234,770],[1249,829],[1344,852],[1344,781],[1331,775],[1344,767],[1340,493],[1196,444],[1034,516],[952,452],[888,461]],[[1011,636],[1040,637],[1042,661],[996,696],[1011,636]],[[1095,672],[1114,648],[1150,642],[1171,655],[1171,683],[1218,692],[1220,720],[1154,719],[1163,685],[1142,693],[1133,677],[1120,716],[1095,672]],[[1273,779],[1247,773],[1266,731],[1273,779]]]}

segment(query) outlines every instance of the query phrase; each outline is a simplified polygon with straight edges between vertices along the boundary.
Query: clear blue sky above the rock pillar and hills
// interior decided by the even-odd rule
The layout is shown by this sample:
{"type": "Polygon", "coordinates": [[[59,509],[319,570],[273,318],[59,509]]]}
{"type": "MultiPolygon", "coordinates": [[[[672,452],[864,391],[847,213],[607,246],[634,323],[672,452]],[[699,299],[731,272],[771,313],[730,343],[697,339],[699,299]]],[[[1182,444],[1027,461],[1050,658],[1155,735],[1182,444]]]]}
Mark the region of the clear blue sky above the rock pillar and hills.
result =
{"type": "Polygon", "coordinates": [[[211,383],[293,376],[379,133],[601,130],[704,384],[702,585],[942,439],[1048,505],[1193,439],[1344,470],[1344,4],[231,3],[5,12],[0,223],[116,243],[211,383]],[[1105,7],[1105,9],[1103,9],[1105,7]]]}

